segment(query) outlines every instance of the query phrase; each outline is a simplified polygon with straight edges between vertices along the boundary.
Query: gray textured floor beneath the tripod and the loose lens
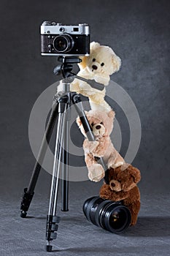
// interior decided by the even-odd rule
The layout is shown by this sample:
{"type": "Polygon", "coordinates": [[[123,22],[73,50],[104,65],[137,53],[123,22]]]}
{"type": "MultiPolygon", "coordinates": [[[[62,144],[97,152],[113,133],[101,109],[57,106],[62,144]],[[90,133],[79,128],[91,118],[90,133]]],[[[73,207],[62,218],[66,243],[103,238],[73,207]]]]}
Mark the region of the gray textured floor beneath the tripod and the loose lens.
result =
{"type": "MultiPolygon", "coordinates": [[[[82,213],[82,199],[74,196],[69,211],[58,211],[61,222],[51,255],[170,255],[169,195],[142,195],[135,227],[116,235],[88,222],[82,213]]],[[[59,208],[59,207],[58,207],[59,208]]],[[[49,255],[45,252],[48,198],[35,195],[26,219],[20,218],[20,199],[1,198],[1,256],[49,255]]]]}

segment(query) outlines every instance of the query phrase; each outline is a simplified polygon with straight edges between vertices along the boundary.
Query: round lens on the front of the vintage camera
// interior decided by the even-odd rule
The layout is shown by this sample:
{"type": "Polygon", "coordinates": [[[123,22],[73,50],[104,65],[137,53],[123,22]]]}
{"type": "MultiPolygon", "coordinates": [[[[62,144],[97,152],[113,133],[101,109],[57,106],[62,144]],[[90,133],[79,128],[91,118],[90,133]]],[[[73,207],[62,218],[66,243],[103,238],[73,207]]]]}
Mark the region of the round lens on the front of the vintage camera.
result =
{"type": "Polygon", "coordinates": [[[59,53],[64,53],[72,49],[73,39],[69,34],[62,34],[54,39],[54,48],[59,53]]]}

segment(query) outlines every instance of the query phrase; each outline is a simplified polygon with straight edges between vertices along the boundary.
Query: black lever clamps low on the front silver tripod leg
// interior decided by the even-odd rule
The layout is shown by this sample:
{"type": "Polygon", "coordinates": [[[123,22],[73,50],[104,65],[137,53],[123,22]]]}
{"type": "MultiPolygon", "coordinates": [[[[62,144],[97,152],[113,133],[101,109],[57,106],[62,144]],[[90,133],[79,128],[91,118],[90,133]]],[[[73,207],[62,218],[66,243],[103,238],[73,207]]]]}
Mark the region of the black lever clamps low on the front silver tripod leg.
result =
{"type": "Polygon", "coordinates": [[[60,222],[60,217],[47,215],[47,227],[46,227],[46,239],[51,241],[57,238],[56,231],[58,230],[58,223],[60,222]]]}

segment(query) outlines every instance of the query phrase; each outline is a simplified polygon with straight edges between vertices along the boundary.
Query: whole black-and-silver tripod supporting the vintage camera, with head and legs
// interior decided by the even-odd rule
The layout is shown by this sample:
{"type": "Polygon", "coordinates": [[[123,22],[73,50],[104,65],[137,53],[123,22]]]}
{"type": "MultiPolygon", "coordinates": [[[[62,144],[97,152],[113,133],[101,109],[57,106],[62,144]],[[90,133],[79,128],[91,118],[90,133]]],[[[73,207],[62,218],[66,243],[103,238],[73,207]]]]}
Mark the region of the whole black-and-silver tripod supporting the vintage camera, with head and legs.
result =
{"type": "MultiPolygon", "coordinates": [[[[58,57],[58,61],[62,61],[61,65],[55,67],[54,72],[56,75],[62,73],[63,75],[63,91],[55,94],[53,98],[53,105],[51,108],[50,118],[47,123],[45,130],[45,135],[42,139],[42,145],[39,149],[39,154],[34,165],[34,170],[31,176],[31,180],[28,184],[28,188],[24,189],[23,198],[20,206],[20,217],[25,218],[27,215],[28,208],[31,204],[31,200],[34,196],[34,189],[36,187],[36,181],[39,177],[41,170],[42,161],[45,157],[47,151],[47,144],[50,142],[51,135],[53,133],[53,128],[55,126],[55,121],[58,118],[57,132],[55,137],[55,154],[53,161],[53,176],[51,181],[50,189],[50,203],[49,211],[47,214],[47,227],[46,227],[46,250],[51,252],[53,246],[50,244],[53,239],[57,237],[56,231],[58,230],[58,223],[60,221],[57,216],[57,201],[58,201],[58,184],[59,184],[59,174],[60,169],[62,170],[61,179],[61,210],[69,211],[68,208],[68,196],[69,196],[69,179],[68,179],[68,166],[69,166],[69,151],[68,151],[68,137],[69,137],[69,110],[71,105],[77,111],[80,120],[82,121],[82,126],[85,129],[88,140],[94,141],[95,137],[91,131],[88,119],[85,116],[85,111],[82,106],[82,101],[80,95],[76,92],[72,92],[69,89],[70,82],[72,81],[72,66],[73,64],[80,63],[79,58],[74,57],[58,57]],[[61,161],[62,157],[62,161],[61,161]],[[61,165],[62,164],[62,167],[61,165]],[[61,168],[60,168],[61,167],[61,168]]],[[[78,78],[78,77],[77,77],[78,78]]],[[[104,165],[103,159],[98,159],[104,170],[107,170],[104,165]]],[[[107,176],[105,175],[105,181],[107,181],[107,176]]]]}

